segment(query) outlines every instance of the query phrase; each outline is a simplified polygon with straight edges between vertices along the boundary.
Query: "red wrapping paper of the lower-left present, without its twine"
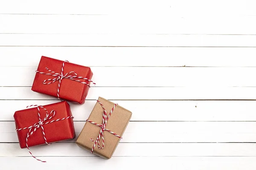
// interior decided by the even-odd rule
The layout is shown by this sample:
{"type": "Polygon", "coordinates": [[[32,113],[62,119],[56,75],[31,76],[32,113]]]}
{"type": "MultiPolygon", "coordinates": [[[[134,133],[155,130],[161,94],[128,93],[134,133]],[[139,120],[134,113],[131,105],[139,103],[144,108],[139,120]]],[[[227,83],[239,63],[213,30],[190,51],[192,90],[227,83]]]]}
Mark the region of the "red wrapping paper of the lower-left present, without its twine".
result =
{"type": "MultiPolygon", "coordinates": [[[[55,110],[55,116],[50,119],[62,119],[64,117],[72,116],[70,111],[70,106],[67,102],[58,102],[50,105],[45,105],[44,108],[47,109],[48,113],[50,111],[55,110]]],[[[44,119],[46,116],[46,111],[44,109],[40,109],[40,117],[44,119]]],[[[14,113],[15,125],[16,129],[29,127],[39,122],[38,109],[29,108],[21,111],[16,111],[14,113]]],[[[52,122],[46,125],[43,125],[45,136],[48,143],[59,142],[67,139],[73,139],[76,137],[73,119],[64,119],[58,122],[52,122]]],[[[17,130],[17,136],[20,142],[20,147],[26,147],[26,136],[29,132],[29,129],[17,130]]],[[[28,146],[36,146],[46,144],[43,136],[43,132],[41,128],[38,128],[32,136],[28,138],[28,146]]]]}

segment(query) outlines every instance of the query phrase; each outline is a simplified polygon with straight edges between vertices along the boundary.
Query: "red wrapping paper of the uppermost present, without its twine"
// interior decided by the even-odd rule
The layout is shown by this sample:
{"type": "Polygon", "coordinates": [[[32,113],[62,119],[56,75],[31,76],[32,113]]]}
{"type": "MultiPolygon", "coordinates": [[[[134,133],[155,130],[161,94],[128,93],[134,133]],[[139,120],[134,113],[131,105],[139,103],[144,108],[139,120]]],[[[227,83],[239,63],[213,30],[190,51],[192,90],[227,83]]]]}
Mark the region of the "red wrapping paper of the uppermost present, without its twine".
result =
{"type": "MultiPolygon", "coordinates": [[[[47,67],[50,70],[61,74],[62,64],[63,64],[63,61],[61,60],[42,56],[39,62],[37,71],[50,73],[49,71],[46,70],[46,67],[47,67]]],[[[85,66],[73,64],[70,62],[65,62],[63,74],[66,74],[70,71],[74,71],[76,72],[77,76],[84,77],[87,79],[91,79],[93,76],[93,73],[90,67],[85,67],[85,66]]],[[[32,85],[32,91],[57,97],[59,81],[56,81],[49,85],[43,84],[45,79],[53,79],[53,78],[56,78],[56,77],[53,77],[52,75],[36,73],[35,79],[32,85]]],[[[90,82],[87,80],[84,80],[84,79],[79,79],[79,80],[81,82],[86,82],[87,84],[90,85],[90,82]]],[[[82,84],[81,82],[76,82],[71,79],[62,79],[60,88],[59,88],[60,98],[65,99],[67,101],[79,102],[80,104],[83,104],[88,94],[89,86],[82,84]]]]}

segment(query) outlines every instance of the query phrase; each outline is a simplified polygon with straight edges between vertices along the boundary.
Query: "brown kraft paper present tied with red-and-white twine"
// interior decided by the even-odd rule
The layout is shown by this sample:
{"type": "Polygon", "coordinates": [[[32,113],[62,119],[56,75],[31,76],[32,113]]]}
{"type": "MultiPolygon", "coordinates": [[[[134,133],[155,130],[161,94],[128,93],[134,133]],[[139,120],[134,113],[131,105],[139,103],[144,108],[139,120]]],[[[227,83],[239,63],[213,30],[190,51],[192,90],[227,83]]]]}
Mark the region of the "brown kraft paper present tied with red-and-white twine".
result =
{"type": "Polygon", "coordinates": [[[76,144],[110,159],[131,119],[131,111],[102,97],[96,102],[76,144]]]}

